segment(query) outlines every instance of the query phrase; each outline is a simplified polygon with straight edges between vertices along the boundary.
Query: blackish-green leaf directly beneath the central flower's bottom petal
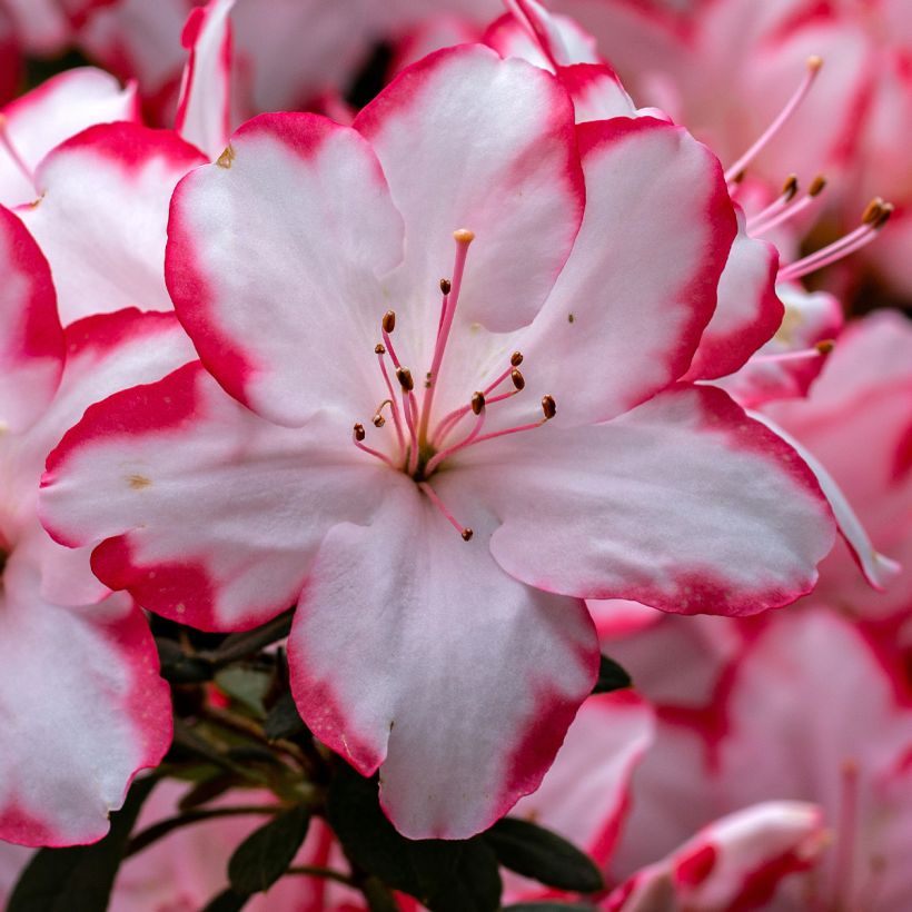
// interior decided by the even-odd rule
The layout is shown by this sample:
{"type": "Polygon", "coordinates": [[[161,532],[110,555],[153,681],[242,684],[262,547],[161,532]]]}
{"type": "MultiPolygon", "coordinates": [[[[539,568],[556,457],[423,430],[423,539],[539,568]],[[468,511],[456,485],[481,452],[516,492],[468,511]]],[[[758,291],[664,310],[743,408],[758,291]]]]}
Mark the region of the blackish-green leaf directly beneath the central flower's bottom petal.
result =
{"type": "Polygon", "coordinates": [[[329,789],[327,820],[355,864],[433,912],[499,908],[497,860],[480,837],[406,839],[380,810],[376,779],[364,779],[341,762],[329,789]]]}

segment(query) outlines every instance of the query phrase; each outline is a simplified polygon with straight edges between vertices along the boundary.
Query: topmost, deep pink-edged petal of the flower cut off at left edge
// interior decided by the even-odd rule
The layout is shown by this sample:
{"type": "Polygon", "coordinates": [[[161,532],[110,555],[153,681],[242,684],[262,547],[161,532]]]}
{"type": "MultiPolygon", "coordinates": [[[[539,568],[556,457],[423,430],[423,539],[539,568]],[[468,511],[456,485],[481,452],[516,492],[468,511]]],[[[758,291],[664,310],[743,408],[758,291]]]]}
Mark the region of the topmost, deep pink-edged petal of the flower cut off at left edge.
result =
{"type": "Polygon", "coordinates": [[[0,437],[41,414],[63,371],[63,330],[48,261],[0,206],[0,437]]]}

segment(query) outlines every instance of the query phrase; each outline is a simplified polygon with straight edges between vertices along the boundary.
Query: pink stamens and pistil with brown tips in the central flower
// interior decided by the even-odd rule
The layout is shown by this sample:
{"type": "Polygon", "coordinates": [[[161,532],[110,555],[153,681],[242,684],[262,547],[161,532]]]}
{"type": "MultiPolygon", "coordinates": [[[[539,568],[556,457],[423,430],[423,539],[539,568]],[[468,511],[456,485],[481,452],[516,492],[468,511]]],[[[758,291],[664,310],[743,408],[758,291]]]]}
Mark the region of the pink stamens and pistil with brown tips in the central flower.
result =
{"type": "Polygon", "coordinates": [[[439,385],[438,380],[456,308],[459,304],[468,248],[475,240],[475,235],[466,228],[460,228],[453,232],[453,239],[456,241],[453,278],[440,279],[440,294],[443,295],[440,318],[437,323],[434,354],[430,366],[424,375],[424,391],[420,397],[415,390],[415,378],[412,370],[399,360],[393,343],[393,334],[396,329],[395,311],[387,310],[380,321],[383,341],[375,346],[374,354],[377,356],[388,395],[377,407],[370,423],[375,428],[380,429],[387,426],[387,416],[391,419],[396,435],[396,444],[393,447],[395,455],[389,456],[386,452],[365,443],[367,430],[360,423],[354,426],[353,439],[359,449],[383,460],[390,468],[404,472],[414,478],[447,522],[468,542],[473,535],[472,529],[456,521],[428,480],[447,458],[459,450],[495,437],[541,427],[555,416],[557,407],[554,398],[546,395],[542,398],[541,418],[502,430],[483,433],[488,409],[525,389],[525,377],[519,371],[523,355],[521,351],[514,351],[502,373],[482,389],[472,393],[464,405],[454,408],[440,418],[435,417],[434,398],[439,385]]]}

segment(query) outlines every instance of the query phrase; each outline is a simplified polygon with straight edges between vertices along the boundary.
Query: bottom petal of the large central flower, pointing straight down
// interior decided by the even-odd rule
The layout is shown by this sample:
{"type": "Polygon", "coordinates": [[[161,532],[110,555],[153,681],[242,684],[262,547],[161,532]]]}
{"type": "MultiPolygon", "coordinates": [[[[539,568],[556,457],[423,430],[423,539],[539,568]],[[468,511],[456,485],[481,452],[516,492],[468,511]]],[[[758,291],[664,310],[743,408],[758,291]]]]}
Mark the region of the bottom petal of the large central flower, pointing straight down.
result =
{"type": "MultiPolygon", "coordinates": [[[[442,477],[439,494],[458,486],[442,477]]],[[[289,638],[301,716],[361,773],[379,767],[412,839],[470,836],[537,787],[595,678],[583,604],[507,576],[478,518],[466,543],[394,478],[370,525],[327,535],[289,638]]]]}

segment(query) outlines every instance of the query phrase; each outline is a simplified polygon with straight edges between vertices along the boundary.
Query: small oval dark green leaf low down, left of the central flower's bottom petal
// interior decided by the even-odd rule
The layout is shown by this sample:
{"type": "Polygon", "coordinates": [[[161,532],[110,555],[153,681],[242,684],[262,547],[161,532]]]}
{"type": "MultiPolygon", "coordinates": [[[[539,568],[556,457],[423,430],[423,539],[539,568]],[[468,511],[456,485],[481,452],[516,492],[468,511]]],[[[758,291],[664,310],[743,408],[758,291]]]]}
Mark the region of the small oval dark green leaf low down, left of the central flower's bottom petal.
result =
{"type": "Polygon", "coordinates": [[[288,870],[309,823],[310,812],[298,805],[252,832],[228,862],[231,889],[246,894],[268,890],[288,870]]]}

